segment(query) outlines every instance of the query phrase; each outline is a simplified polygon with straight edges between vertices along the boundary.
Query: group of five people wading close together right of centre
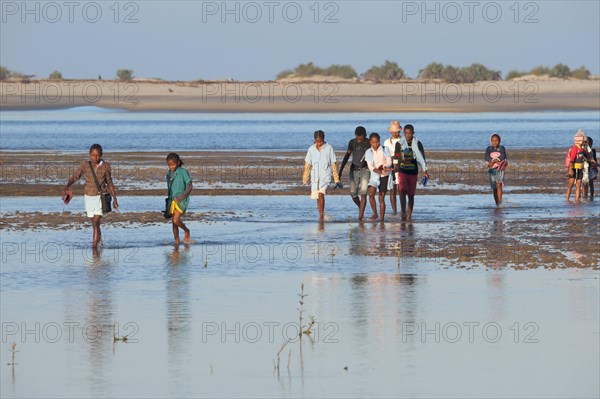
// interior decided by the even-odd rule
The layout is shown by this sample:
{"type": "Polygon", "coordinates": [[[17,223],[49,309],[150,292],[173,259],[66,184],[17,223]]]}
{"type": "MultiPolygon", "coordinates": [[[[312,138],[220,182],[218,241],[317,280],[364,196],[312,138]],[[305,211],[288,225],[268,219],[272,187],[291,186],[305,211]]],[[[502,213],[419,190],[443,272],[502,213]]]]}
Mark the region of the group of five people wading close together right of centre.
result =
{"type": "Polygon", "coordinates": [[[311,184],[311,198],[317,200],[319,219],[325,213],[325,195],[332,184],[341,186],[340,179],[344,167],[350,157],[350,195],[358,207],[358,220],[364,220],[367,206],[367,195],[373,215],[369,220],[385,220],[385,196],[391,192],[392,213],[397,214],[396,193],[400,196],[400,215],[402,220],[411,220],[415,203],[419,169],[423,169],[423,183],[429,179],[427,161],[423,144],[417,140],[412,125],[404,126],[404,137],[401,137],[402,126],[392,121],[388,127],[391,137],[381,145],[378,133],[371,133],[367,138],[367,130],[358,126],[355,138],[348,143],[339,171],[333,147],[325,142],[325,133],[317,130],[315,142],[308,149],[304,164],[302,181],[311,184]],[[377,207],[376,195],[379,199],[377,207]]]}

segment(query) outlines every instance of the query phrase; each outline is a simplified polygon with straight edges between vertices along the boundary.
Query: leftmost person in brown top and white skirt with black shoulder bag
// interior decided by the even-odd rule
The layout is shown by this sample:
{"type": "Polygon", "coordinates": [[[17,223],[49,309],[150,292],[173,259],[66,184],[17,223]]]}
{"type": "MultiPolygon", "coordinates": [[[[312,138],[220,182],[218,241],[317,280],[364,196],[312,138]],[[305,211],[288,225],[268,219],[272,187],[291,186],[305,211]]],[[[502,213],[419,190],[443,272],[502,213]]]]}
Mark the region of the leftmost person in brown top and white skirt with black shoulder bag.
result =
{"type": "MultiPolygon", "coordinates": [[[[62,190],[63,198],[70,198],[72,196],[69,191],[69,187],[79,179],[81,176],[85,176],[85,187],[84,201],[85,211],[87,216],[92,220],[93,235],[92,235],[92,248],[97,249],[98,244],[102,240],[102,232],[100,231],[100,221],[102,219],[102,200],[100,195],[110,192],[113,199],[113,208],[119,209],[119,203],[117,202],[117,193],[115,186],[113,185],[110,164],[102,159],[102,146],[100,144],[92,144],[90,147],[90,160],[83,161],[79,165],[79,168],[75,170],[73,175],[67,181],[67,184],[62,190]],[[101,192],[98,192],[94,175],[98,179],[101,192]]],[[[68,202],[68,199],[66,200],[68,202]]]]}

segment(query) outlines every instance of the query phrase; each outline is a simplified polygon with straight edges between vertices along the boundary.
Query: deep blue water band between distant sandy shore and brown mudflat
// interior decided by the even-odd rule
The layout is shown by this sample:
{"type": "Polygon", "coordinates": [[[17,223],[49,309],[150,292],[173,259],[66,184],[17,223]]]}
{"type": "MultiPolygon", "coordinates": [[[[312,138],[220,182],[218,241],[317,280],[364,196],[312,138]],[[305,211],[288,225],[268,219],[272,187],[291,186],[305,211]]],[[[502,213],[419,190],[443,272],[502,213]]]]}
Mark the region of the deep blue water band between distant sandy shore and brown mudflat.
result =
{"type": "Polygon", "coordinates": [[[315,130],[343,151],[358,125],[387,137],[390,120],[412,123],[426,149],[484,151],[493,132],[510,148],[568,148],[573,133],[600,135],[596,111],[506,113],[210,114],[129,113],[96,107],[0,112],[2,150],[78,151],[101,138],[105,152],[306,150],[315,130]],[[177,136],[180,147],[165,137],[177,136]],[[126,140],[123,140],[126,137],[126,140]],[[215,139],[218,137],[218,139],[215,139]]]}

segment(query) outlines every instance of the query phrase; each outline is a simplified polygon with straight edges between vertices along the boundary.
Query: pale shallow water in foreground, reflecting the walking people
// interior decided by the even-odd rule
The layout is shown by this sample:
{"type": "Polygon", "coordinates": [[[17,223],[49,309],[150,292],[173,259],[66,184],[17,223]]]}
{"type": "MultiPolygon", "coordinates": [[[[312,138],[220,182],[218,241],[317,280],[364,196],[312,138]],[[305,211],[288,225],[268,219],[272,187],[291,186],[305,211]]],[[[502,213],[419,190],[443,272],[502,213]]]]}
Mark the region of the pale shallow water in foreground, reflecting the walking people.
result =
{"type": "MultiPolygon", "coordinates": [[[[597,206],[514,195],[497,212],[490,195],[419,196],[403,229],[350,224],[350,201],[327,197],[334,220],[319,225],[304,196],[194,197],[193,211],[233,213],[190,222],[195,242],[180,248],[168,224],[107,225],[97,257],[87,226],[2,231],[0,396],[598,397],[597,270],[376,255],[392,236],[434,239],[451,221],[598,217],[597,206]],[[302,283],[303,324],[314,315],[317,327],[284,348],[277,373],[281,345],[297,341],[302,283]],[[113,342],[114,323],[128,342],[113,342]]],[[[0,212],[59,203],[2,198],[0,212]]]]}

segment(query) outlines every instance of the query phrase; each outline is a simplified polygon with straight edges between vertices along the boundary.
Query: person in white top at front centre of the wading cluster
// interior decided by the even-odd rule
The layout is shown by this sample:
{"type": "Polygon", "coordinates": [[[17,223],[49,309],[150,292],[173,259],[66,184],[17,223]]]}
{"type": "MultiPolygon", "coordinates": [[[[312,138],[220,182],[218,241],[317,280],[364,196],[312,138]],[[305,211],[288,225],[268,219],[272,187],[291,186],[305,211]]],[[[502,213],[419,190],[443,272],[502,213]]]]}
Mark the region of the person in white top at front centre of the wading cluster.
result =
{"type": "Polygon", "coordinates": [[[377,220],[381,217],[381,222],[385,221],[385,194],[388,190],[390,171],[392,170],[392,156],[385,146],[380,145],[378,133],[371,133],[369,142],[371,148],[365,152],[365,160],[371,171],[369,179],[369,203],[373,210],[373,216],[370,220],[377,220]],[[379,215],[377,215],[377,204],[375,203],[375,192],[379,192],[379,215]]]}

